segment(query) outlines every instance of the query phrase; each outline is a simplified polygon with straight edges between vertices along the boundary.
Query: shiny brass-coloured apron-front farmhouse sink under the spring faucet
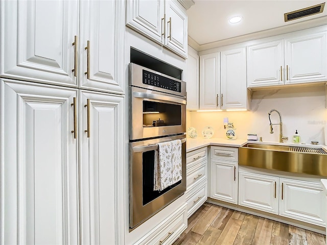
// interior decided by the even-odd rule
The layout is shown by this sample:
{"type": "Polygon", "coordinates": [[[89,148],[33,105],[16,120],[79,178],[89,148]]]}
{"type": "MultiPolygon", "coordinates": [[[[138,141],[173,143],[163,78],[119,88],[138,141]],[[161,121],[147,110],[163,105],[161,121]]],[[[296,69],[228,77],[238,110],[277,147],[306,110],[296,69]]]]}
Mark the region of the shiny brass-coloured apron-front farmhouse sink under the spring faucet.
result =
{"type": "Polygon", "coordinates": [[[327,177],[322,148],[248,143],[239,149],[239,165],[327,177]]]}

